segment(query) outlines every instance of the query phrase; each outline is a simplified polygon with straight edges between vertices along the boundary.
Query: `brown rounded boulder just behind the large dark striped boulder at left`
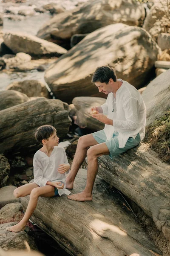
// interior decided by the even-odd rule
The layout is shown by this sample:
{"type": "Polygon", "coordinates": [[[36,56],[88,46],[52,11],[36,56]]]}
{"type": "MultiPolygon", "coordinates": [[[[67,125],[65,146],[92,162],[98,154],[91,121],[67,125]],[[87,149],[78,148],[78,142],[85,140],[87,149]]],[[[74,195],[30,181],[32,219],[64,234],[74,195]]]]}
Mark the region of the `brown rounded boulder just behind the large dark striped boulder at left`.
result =
{"type": "Polygon", "coordinates": [[[25,93],[28,97],[39,96],[50,98],[47,87],[38,80],[14,81],[7,86],[6,90],[16,90],[20,93],[25,93]]]}

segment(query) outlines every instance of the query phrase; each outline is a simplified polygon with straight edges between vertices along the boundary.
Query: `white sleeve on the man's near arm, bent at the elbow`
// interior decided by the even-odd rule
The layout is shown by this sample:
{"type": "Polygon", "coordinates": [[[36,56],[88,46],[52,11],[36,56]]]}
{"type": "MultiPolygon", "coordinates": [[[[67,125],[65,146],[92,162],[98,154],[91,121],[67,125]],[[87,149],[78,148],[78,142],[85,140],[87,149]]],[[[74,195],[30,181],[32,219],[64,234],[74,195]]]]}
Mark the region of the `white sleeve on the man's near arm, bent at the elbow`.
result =
{"type": "Polygon", "coordinates": [[[128,99],[123,103],[126,120],[113,120],[115,131],[135,131],[138,125],[138,100],[128,99]]]}

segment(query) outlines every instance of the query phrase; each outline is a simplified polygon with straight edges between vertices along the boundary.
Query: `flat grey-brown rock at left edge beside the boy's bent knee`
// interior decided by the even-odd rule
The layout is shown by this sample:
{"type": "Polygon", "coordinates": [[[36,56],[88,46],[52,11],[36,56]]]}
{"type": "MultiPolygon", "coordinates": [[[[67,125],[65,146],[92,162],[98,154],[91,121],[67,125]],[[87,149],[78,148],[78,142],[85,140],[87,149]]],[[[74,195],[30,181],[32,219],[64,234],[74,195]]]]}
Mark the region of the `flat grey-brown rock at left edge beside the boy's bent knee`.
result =
{"type": "Polygon", "coordinates": [[[19,198],[15,198],[13,195],[15,189],[15,186],[5,186],[0,188],[0,209],[6,204],[19,202],[19,198]]]}

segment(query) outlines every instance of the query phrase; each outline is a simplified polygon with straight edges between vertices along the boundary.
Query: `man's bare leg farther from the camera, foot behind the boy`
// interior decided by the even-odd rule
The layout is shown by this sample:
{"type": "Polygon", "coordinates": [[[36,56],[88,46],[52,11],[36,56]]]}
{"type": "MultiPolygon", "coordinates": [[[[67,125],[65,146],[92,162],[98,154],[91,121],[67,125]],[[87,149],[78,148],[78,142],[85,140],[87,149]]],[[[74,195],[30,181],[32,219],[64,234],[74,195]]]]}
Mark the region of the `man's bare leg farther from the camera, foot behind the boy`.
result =
{"type": "Polygon", "coordinates": [[[85,160],[88,147],[98,144],[98,142],[94,139],[92,134],[88,134],[79,138],[77,144],[77,150],[74,156],[73,163],[71,165],[71,170],[66,178],[66,188],[72,189],[74,179],[77,175],[77,172],[85,160]]]}

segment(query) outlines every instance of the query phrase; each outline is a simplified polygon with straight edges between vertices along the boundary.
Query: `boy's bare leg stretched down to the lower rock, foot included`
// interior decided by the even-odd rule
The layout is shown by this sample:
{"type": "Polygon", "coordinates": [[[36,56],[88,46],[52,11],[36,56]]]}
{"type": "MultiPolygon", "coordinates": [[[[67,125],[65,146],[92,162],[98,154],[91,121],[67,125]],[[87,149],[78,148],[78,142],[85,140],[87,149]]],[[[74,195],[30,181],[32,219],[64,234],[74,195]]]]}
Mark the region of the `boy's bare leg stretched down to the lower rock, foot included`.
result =
{"type": "Polygon", "coordinates": [[[16,225],[11,226],[6,228],[6,230],[8,231],[12,231],[12,232],[19,232],[25,229],[27,221],[29,220],[29,218],[31,217],[31,215],[33,214],[36,206],[37,206],[37,201],[39,196],[43,196],[43,197],[52,197],[54,196],[54,186],[50,186],[50,185],[46,185],[46,186],[42,186],[42,187],[36,187],[34,189],[32,189],[31,193],[30,193],[30,200],[25,212],[25,215],[23,217],[23,219],[16,225]]]}

